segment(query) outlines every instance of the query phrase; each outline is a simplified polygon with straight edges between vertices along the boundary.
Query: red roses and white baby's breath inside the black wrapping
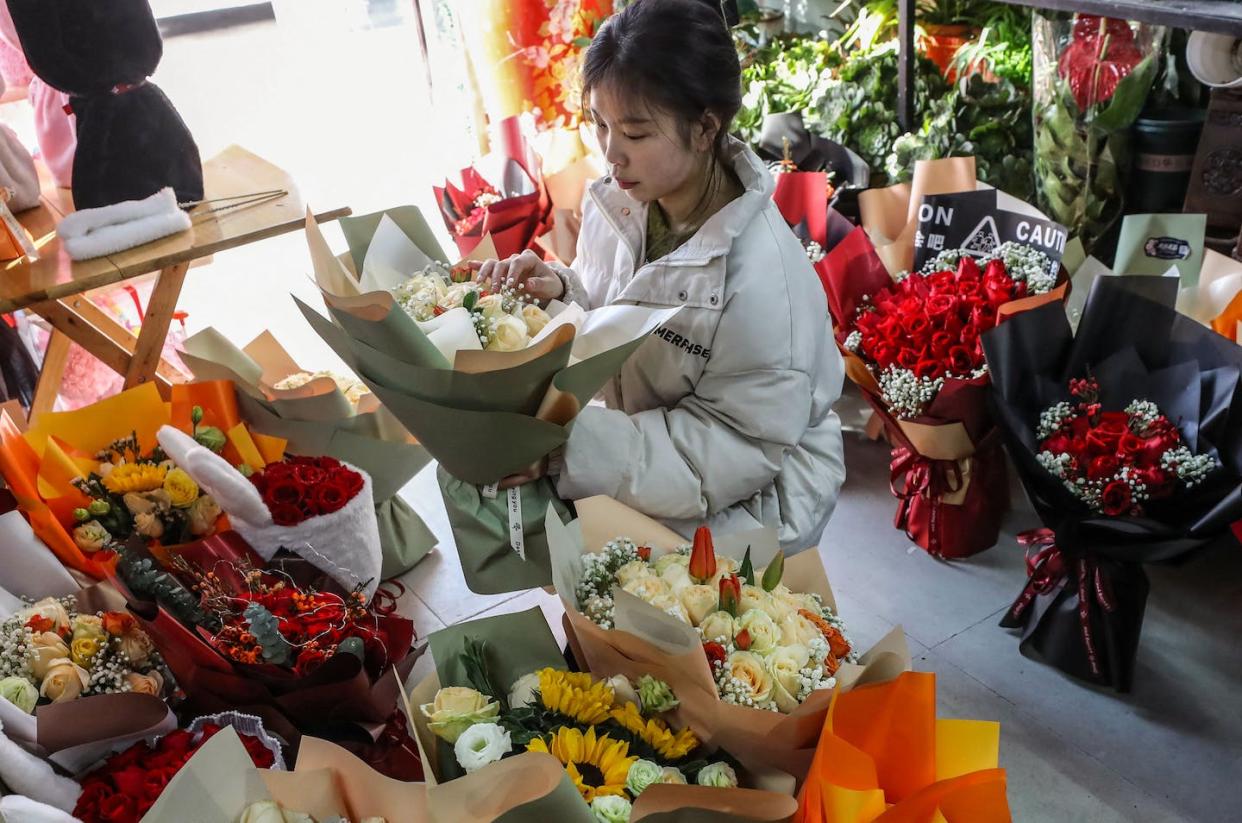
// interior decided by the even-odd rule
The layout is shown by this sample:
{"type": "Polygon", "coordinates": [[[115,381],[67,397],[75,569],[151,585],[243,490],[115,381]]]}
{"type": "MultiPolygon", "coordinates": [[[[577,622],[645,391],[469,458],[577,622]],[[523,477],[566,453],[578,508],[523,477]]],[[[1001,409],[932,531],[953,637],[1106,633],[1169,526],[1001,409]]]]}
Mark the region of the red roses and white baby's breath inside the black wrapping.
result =
{"type": "Polygon", "coordinates": [[[1220,465],[1211,454],[1192,453],[1151,401],[1103,411],[1093,377],[1071,380],[1069,394],[1076,402],[1062,401],[1040,416],[1035,457],[1092,511],[1141,516],[1146,500],[1194,488],[1220,465]]]}

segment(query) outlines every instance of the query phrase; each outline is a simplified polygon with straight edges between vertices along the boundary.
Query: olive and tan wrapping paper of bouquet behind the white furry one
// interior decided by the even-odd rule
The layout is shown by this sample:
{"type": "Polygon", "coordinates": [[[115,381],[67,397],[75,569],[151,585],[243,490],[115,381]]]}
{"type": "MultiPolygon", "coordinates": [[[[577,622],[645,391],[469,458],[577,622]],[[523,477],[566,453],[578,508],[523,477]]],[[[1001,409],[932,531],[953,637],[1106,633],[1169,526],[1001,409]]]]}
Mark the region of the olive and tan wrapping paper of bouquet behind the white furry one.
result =
{"type": "Polygon", "coordinates": [[[399,494],[431,457],[388,410],[365,397],[355,408],[330,379],[301,390],[271,389],[298,369],[267,334],[241,350],[215,329],[205,329],[184,346],[183,360],[196,380],[233,382],[238,411],[256,432],[287,439],[289,452],[335,457],[371,475],[385,580],[409,571],[431,551],[435,535],[399,494]]]}

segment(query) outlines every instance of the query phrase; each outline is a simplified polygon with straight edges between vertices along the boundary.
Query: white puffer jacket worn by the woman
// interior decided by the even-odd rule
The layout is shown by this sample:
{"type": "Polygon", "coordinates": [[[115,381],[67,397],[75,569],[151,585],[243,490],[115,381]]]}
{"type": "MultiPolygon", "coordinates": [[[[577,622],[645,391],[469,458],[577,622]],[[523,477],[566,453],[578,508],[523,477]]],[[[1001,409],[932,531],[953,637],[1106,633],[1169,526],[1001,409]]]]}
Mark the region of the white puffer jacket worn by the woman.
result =
{"type": "Polygon", "coordinates": [[[671,254],[642,264],[646,206],[591,186],[566,299],[684,305],[587,407],[565,447],[563,498],[605,494],[689,536],[780,530],[818,544],[845,480],[832,405],[843,370],[827,302],[773,204],[771,174],[733,140],[745,192],[671,254]]]}

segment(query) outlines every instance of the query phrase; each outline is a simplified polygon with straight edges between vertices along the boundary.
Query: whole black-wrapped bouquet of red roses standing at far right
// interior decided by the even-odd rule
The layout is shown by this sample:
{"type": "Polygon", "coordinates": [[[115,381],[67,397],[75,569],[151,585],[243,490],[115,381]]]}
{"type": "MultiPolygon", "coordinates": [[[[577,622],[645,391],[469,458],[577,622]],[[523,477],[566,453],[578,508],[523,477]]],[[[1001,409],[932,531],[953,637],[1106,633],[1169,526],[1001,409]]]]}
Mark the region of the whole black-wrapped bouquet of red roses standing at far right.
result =
{"type": "Polygon", "coordinates": [[[1095,281],[1073,334],[1059,307],[984,338],[999,421],[1045,528],[1002,626],[1023,654],[1129,690],[1143,564],[1233,541],[1242,518],[1242,349],[1172,310],[1171,278],[1095,281]],[[1164,289],[1159,303],[1143,297],[1164,289]]]}

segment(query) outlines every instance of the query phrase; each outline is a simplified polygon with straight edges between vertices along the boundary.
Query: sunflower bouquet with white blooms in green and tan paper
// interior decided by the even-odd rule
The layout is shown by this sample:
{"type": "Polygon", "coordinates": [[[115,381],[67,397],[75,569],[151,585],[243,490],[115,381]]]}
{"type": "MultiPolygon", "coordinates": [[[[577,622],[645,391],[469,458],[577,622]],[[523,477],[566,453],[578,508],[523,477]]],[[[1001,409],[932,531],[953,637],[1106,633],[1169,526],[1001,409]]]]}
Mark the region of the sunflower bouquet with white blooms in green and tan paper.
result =
{"type": "Polygon", "coordinates": [[[686,724],[667,683],[566,672],[538,608],[443,629],[430,645],[437,674],[411,695],[410,714],[433,818],[469,794],[473,806],[455,811],[471,819],[530,803],[532,821],[535,808],[543,819],[619,823],[655,809],[791,814],[787,794],[738,788],[745,772],[686,724]]]}

